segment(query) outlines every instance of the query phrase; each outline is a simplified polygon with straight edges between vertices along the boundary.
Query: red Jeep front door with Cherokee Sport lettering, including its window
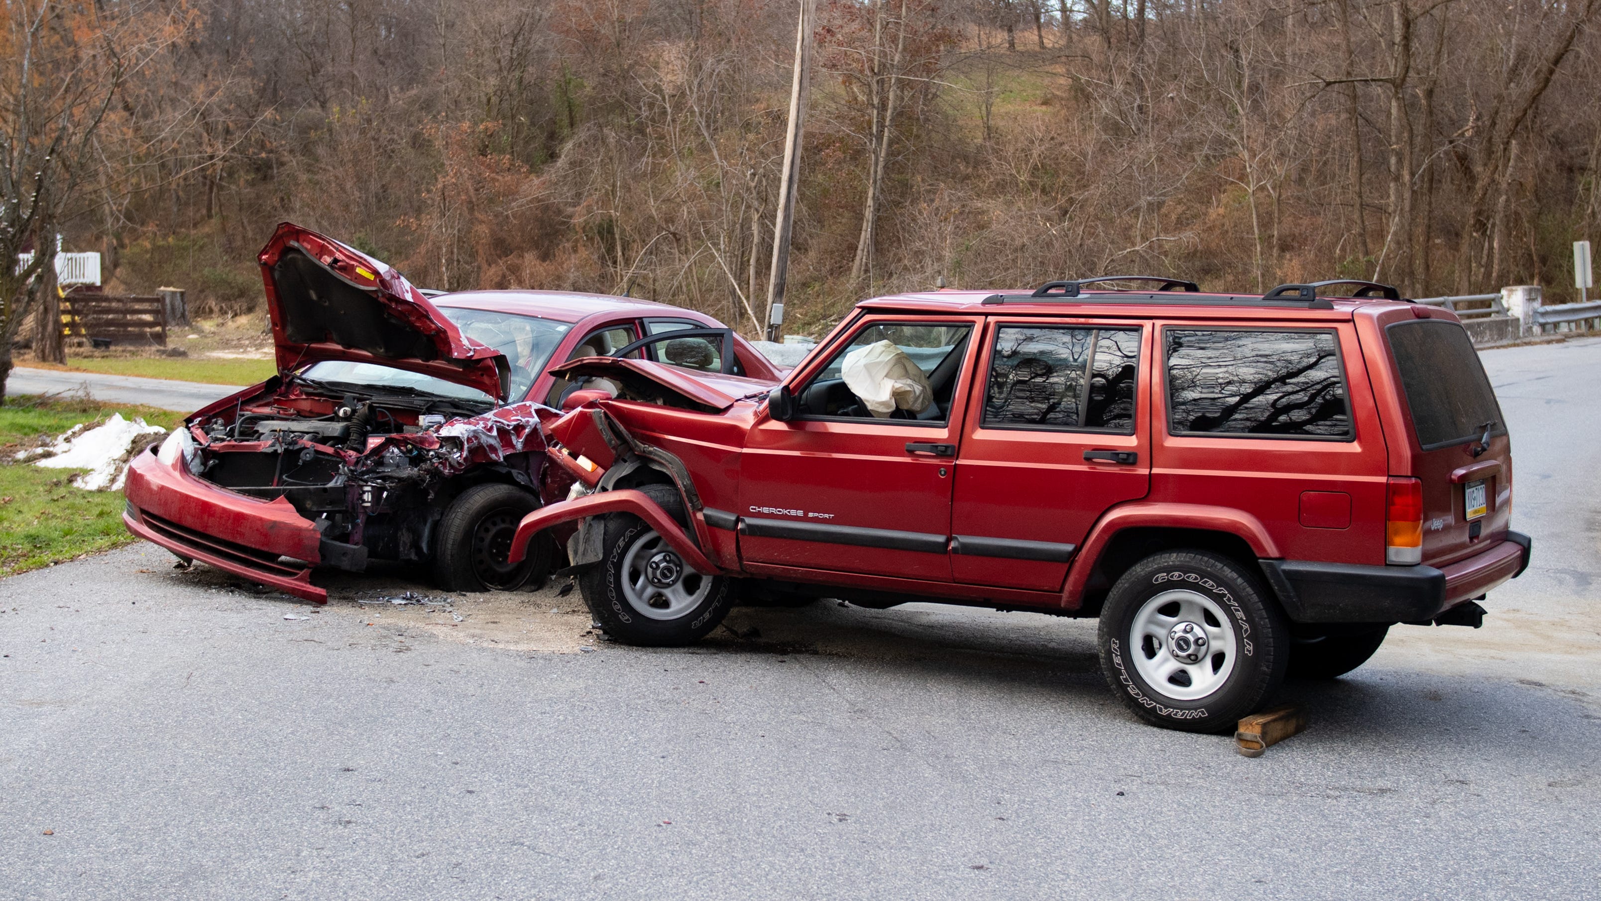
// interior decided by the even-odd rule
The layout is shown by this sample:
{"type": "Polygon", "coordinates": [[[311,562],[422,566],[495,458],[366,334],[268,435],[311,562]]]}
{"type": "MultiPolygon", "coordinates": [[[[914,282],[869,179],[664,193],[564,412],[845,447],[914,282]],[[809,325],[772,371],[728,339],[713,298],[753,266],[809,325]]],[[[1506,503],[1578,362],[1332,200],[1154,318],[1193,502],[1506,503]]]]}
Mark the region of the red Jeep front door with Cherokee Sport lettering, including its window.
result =
{"type": "MultiPolygon", "coordinates": [[[[951,580],[951,481],[973,317],[869,316],[791,380],[740,462],[740,556],[767,568],[951,580]]],[[[802,576],[802,574],[796,574],[802,576]]]]}

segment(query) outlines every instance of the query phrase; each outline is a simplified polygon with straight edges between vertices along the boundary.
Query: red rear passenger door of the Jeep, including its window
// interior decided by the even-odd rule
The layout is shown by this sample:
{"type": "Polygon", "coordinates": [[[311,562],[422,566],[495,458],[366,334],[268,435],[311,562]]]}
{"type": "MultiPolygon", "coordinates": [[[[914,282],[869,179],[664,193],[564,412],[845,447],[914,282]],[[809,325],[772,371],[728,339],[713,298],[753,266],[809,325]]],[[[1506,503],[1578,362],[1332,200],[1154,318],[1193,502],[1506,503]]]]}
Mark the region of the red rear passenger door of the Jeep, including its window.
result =
{"type": "Polygon", "coordinates": [[[1057,590],[1100,515],[1145,497],[1150,329],[1001,319],[956,463],[956,582],[1057,590]]]}

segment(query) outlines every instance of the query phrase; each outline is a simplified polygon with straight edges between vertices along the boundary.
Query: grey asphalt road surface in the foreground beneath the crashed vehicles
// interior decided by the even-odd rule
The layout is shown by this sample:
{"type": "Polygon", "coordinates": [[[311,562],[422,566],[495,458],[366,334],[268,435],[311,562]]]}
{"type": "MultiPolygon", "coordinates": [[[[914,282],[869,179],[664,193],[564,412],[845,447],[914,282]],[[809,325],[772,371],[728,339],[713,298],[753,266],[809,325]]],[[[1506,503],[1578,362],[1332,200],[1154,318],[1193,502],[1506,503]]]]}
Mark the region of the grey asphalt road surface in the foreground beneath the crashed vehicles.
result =
{"type": "Polygon", "coordinates": [[[1257,760],[1138,725],[1092,622],[640,651],[551,590],[314,612],[150,545],[6,579],[0,898],[1596,898],[1601,340],[1486,362],[1531,571],[1290,685],[1257,760]]]}

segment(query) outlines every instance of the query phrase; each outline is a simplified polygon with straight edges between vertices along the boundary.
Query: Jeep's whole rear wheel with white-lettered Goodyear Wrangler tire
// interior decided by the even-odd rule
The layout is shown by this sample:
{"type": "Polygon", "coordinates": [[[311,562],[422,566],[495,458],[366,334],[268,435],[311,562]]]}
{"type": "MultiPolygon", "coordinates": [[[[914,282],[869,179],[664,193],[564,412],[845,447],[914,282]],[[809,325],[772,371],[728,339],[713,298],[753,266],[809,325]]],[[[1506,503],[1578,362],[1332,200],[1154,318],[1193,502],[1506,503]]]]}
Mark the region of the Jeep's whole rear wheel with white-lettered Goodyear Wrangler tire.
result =
{"type": "Polygon", "coordinates": [[[1140,718],[1223,733],[1284,680],[1289,625],[1238,563],[1209,552],[1158,553],[1106,596],[1100,661],[1113,693],[1140,718]]]}

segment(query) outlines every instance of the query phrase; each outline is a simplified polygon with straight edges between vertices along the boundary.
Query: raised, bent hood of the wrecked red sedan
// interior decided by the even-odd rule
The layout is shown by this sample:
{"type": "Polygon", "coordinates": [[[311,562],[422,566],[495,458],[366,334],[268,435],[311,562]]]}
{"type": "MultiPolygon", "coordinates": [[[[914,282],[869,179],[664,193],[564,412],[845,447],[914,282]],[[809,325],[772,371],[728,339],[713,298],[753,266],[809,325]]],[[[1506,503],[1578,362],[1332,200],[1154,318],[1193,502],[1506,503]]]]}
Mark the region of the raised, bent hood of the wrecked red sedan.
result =
{"type": "Polygon", "coordinates": [[[323,359],[373,362],[506,401],[511,366],[464,337],[400,273],[338,240],[282,223],[258,257],[279,375],[323,359]]]}

